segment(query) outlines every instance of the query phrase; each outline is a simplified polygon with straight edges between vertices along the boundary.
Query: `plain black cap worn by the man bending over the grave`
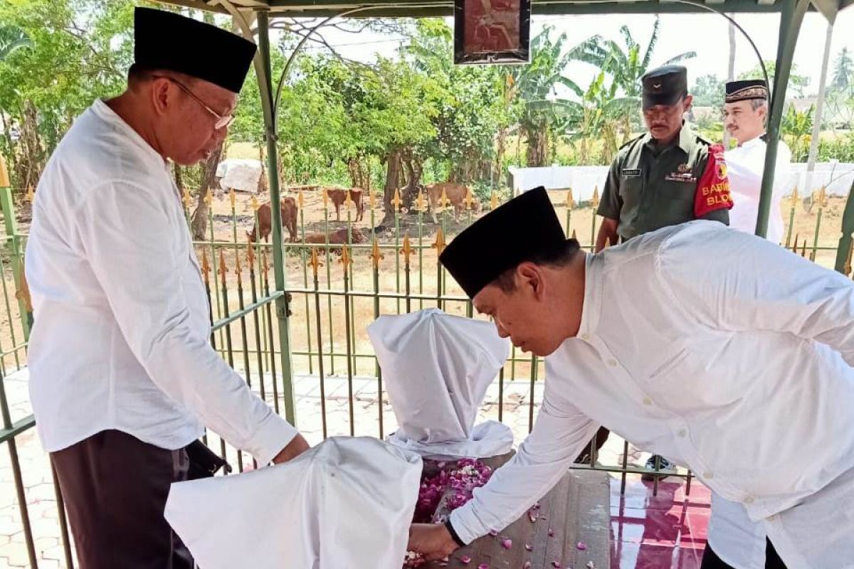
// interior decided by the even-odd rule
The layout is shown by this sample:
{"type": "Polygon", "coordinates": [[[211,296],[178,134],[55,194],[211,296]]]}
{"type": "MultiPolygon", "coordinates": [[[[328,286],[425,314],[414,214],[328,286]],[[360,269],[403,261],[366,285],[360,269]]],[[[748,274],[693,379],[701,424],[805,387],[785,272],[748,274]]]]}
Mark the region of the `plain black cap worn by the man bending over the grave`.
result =
{"type": "Polygon", "coordinates": [[[469,298],[538,253],[557,252],[566,237],[542,186],[495,208],[457,235],[439,261],[469,298]]]}

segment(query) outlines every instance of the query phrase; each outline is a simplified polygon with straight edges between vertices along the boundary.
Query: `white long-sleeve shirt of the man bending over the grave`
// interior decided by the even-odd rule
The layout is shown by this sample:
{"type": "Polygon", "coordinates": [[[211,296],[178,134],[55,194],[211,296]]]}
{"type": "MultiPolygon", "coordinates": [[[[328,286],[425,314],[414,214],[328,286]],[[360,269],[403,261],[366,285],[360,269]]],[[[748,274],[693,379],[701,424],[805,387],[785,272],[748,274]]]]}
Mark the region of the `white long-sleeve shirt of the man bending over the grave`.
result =
{"type": "Polygon", "coordinates": [[[600,425],[752,520],[792,508],[854,467],[852,363],[845,276],[705,221],[609,247],[588,257],[577,336],[546,358],[532,433],[453,526],[471,542],[516,520],[600,425]]]}

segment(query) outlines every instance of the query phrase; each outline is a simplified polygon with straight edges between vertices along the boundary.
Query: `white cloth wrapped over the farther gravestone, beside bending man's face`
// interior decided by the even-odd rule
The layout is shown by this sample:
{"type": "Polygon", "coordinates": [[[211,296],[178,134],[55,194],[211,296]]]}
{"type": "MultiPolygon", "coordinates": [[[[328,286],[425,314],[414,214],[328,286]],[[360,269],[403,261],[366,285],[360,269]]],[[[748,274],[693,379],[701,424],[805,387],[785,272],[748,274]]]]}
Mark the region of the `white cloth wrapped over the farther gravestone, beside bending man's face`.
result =
{"type": "Polygon", "coordinates": [[[389,443],[425,458],[485,458],[511,450],[510,427],[475,425],[510,351],[494,325],[436,308],[380,316],[368,326],[400,426],[389,443]]]}

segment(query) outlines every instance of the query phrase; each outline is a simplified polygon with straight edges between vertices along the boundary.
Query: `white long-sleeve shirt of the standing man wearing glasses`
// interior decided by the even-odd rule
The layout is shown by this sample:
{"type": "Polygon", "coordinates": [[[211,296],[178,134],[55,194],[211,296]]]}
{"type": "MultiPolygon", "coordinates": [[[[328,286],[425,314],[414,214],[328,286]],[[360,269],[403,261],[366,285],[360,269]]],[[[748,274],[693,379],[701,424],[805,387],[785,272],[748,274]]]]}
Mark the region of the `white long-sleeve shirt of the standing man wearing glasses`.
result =
{"type": "Polygon", "coordinates": [[[175,450],[204,425],[266,464],[294,438],[210,346],[178,189],[104,102],[75,120],[44,170],[26,279],[30,395],[45,450],[106,429],[175,450]]]}

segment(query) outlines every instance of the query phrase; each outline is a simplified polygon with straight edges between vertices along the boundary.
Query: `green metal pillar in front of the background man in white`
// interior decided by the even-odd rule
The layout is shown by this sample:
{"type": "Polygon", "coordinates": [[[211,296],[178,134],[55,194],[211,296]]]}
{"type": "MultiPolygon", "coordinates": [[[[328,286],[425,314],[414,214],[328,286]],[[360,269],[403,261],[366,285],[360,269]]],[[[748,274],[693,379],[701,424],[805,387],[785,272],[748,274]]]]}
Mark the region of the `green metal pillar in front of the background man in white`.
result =
{"type": "Polygon", "coordinates": [[[798,33],[804,21],[810,0],[785,0],[780,15],[780,39],[777,44],[777,61],[774,73],[774,89],[771,91],[771,108],[768,117],[768,148],[765,151],[765,170],[762,177],[762,194],[759,197],[759,213],[756,220],[756,235],[768,233],[768,217],[771,212],[771,191],[774,189],[774,168],[777,162],[777,146],[780,142],[780,125],[786,108],[786,87],[792,71],[792,58],[798,33]]]}

